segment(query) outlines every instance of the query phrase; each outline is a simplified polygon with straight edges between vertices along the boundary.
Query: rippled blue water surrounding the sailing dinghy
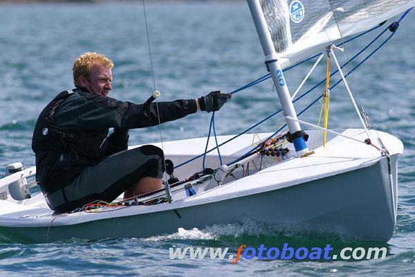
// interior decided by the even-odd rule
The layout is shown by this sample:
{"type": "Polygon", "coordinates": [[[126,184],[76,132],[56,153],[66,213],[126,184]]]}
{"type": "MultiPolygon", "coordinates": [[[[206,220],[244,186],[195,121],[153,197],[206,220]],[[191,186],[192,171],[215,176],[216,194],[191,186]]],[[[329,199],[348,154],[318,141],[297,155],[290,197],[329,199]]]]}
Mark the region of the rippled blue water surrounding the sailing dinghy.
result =
{"type": "MultiPolygon", "coordinates": [[[[232,91],[266,74],[264,57],[244,2],[147,3],[156,87],[163,100],[196,98],[209,91],[232,91]]],[[[0,6],[0,165],[22,161],[34,165],[30,141],[39,111],[59,91],[71,89],[71,68],[85,51],[113,59],[111,96],[140,102],[153,90],[142,4],[107,3],[0,6]]],[[[398,222],[387,244],[347,242],[333,235],[279,233],[270,226],[243,222],[145,239],[70,240],[50,244],[20,244],[0,234],[0,272],[26,276],[173,275],[367,275],[401,276],[415,272],[415,42],[414,12],[396,35],[358,74],[353,91],[365,103],[371,121],[405,144],[399,164],[398,222]],[[293,262],[242,260],[169,260],[169,247],[230,247],[241,244],[278,246],[387,247],[385,260],[293,262]]],[[[347,45],[351,57],[374,34],[347,45]]],[[[354,62],[356,64],[357,62],[354,62]]],[[[311,63],[286,73],[291,90],[311,63]]],[[[351,69],[350,67],[348,69],[351,69]]],[[[311,76],[324,78],[324,69],[311,76]]],[[[335,82],[335,78],[333,82],[335,82]]],[[[311,84],[306,84],[306,88],[311,84]]],[[[322,91],[322,89],[320,89],[322,91]]],[[[317,97],[297,102],[297,110],[317,97]]],[[[218,113],[219,134],[236,134],[278,108],[273,86],[264,82],[237,94],[218,113]]],[[[315,105],[303,115],[317,120],[315,105]]],[[[205,136],[210,116],[197,114],[163,125],[163,140],[205,136]]],[[[274,130],[282,118],[272,118],[255,132],[274,130]]],[[[332,91],[331,127],[359,127],[342,86],[332,91]]],[[[131,131],[131,145],[158,141],[157,127],[131,131]]],[[[4,174],[3,166],[0,175],[4,174]]],[[[160,222],[163,224],[163,222],[160,222]]]]}

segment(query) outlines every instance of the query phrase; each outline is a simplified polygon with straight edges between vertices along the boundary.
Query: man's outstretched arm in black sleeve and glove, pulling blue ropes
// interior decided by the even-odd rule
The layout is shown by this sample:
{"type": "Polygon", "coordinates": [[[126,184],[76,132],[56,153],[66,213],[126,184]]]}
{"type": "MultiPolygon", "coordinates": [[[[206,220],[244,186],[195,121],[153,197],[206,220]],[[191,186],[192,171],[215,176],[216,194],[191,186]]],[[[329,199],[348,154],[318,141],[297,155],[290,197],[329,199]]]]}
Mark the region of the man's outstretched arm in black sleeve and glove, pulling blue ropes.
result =
{"type": "MultiPolygon", "coordinates": [[[[115,127],[119,129],[142,128],[165,123],[194,114],[197,110],[217,110],[223,105],[217,104],[223,93],[215,92],[199,99],[175,100],[171,102],[152,102],[134,104],[114,98],[94,96],[91,93],[74,93],[62,102],[55,113],[55,123],[65,129],[101,129],[115,127]],[[82,93],[82,94],[81,94],[82,93]],[[203,107],[201,104],[203,100],[203,107]],[[211,109],[210,103],[214,108],[211,109]],[[209,105],[205,105],[208,103],[209,105]],[[199,109],[198,109],[199,104],[199,109]],[[216,106],[215,106],[216,105],[216,106]],[[160,118],[160,121],[158,120],[160,118]]],[[[224,100],[225,102],[225,100],[224,100]]]]}

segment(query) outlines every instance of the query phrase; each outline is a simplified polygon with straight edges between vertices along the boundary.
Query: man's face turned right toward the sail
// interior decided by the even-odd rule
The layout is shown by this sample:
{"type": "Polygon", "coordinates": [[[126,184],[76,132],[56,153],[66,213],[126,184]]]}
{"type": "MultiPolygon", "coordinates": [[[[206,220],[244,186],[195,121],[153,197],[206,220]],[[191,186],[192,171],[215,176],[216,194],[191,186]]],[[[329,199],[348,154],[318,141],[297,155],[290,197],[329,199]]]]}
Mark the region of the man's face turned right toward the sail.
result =
{"type": "Polygon", "coordinates": [[[80,78],[82,87],[90,93],[107,97],[111,90],[112,73],[111,69],[104,66],[93,66],[89,78],[80,78]]]}

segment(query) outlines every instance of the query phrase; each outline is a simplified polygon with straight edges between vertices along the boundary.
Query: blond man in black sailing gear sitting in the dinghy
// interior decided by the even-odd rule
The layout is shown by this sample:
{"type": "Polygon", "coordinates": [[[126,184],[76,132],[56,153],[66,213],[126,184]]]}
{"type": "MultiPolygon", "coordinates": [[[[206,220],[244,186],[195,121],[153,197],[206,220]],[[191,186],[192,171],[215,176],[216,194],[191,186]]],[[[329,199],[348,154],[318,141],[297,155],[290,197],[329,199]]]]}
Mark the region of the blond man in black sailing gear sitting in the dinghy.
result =
{"type": "Polygon", "coordinates": [[[96,200],[112,202],[162,188],[163,151],[154,145],[127,150],[129,129],[217,111],[230,94],[134,104],[108,97],[113,62],[84,53],[73,65],[75,89],[43,109],[33,132],[36,181],[54,211],[65,213],[96,200]],[[158,109],[158,111],[157,111],[158,109]],[[109,128],[113,132],[109,134],[109,128]]]}

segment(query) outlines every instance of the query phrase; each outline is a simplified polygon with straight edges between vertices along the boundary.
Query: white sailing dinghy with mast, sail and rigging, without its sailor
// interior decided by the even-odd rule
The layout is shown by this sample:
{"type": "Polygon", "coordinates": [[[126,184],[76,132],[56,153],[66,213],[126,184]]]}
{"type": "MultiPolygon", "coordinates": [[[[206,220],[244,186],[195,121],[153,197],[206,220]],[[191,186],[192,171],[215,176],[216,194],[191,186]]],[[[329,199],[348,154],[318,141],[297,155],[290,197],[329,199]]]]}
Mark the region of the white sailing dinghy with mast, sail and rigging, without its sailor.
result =
{"type": "MultiPolygon", "coordinates": [[[[389,240],[396,224],[403,143],[371,128],[347,85],[350,72],[342,72],[336,55],[346,37],[354,39],[406,11],[383,32],[389,29],[393,35],[415,1],[248,0],[248,6],[270,75],[245,87],[272,78],[288,129],[248,134],[248,128],[234,136],[165,142],[165,189],[63,214],[53,213],[35,188],[36,168],[12,163],[0,180],[0,233],[29,242],[143,238],[248,218],[358,240],[389,240]],[[304,96],[296,97],[311,71],[291,96],[283,69],[315,53],[320,54],[311,71],[323,57],[337,69],[327,70],[326,90],[317,100],[323,98],[328,109],[330,89],[337,84],[330,85],[329,78],[338,73],[362,129],[327,129],[328,111],[324,127],[297,118],[304,110],[297,114],[293,102],[304,96]]],[[[210,127],[214,130],[214,114],[210,127]]],[[[107,174],[111,178],[111,169],[107,174]]]]}

